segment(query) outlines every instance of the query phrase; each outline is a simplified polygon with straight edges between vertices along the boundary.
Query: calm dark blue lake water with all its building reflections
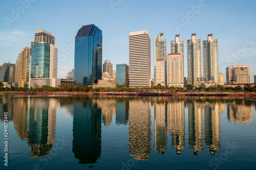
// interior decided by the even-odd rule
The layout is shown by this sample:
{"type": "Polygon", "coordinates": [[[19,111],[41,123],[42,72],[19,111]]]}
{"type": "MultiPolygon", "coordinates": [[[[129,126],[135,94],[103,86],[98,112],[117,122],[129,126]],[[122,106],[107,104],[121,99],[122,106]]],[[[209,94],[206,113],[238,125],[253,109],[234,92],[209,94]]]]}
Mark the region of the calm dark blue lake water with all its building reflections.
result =
{"type": "Polygon", "coordinates": [[[255,116],[233,97],[0,95],[0,169],[255,169],[255,116]]]}

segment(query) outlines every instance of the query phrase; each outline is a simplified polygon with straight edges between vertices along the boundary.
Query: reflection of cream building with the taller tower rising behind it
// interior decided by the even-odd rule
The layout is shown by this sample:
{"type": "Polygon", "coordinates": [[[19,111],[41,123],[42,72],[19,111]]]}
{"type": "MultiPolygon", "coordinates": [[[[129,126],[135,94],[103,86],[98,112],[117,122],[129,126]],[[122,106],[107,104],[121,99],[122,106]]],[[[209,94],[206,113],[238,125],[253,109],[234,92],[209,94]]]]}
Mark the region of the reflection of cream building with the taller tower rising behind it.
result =
{"type": "Polygon", "coordinates": [[[167,132],[172,135],[172,148],[177,155],[185,149],[185,109],[184,101],[172,99],[167,103],[167,132]]]}

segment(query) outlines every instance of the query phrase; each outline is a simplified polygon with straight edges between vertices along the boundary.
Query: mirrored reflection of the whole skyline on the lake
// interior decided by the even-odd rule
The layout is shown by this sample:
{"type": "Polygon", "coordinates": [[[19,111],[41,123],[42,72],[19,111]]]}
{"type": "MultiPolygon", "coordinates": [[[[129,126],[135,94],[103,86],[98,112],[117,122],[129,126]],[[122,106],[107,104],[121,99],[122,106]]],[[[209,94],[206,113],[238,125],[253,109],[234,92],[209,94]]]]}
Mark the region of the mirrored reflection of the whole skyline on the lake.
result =
{"type": "Polygon", "coordinates": [[[115,133],[119,127],[128,129],[129,134],[115,135],[129,137],[127,154],[137,160],[148,160],[151,152],[166,155],[168,146],[178,155],[186,154],[186,148],[191,156],[202,152],[217,155],[222,148],[220,115],[227,113],[228,121],[234,124],[248,124],[252,122],[253,106],[252,102],[229,97],[1,96],[0,120],[3,123],[3,113],[8,111],[17,136],[27,141],[31,158],[37,158],[51,154],[57,108],[65,108],[73,118],[71,152],[78,163],[88,164],[100,159],[104,126],[113,126],[115,133]]]}

